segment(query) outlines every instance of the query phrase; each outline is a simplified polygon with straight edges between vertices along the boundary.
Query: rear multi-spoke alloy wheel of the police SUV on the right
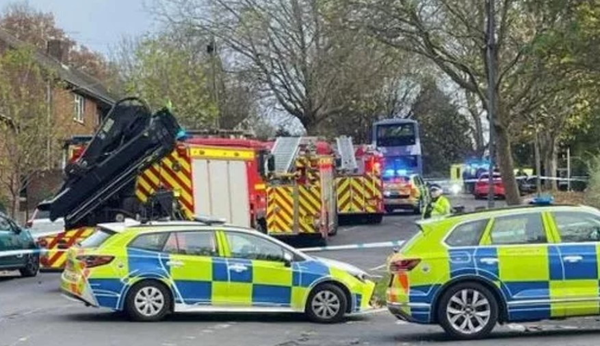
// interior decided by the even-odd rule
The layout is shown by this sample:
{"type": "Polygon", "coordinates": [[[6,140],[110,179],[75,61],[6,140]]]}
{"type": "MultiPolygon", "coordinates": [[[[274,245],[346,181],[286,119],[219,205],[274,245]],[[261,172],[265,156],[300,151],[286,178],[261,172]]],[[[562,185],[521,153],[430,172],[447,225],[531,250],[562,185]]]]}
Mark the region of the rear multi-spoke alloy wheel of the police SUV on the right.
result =
{"type": "Polygon", "coordinates": [[[437,309],[445,332],[463,340],[490,334],[498,320],[498,302],[488,288],[465,282],[448,288],[437,309]]]}

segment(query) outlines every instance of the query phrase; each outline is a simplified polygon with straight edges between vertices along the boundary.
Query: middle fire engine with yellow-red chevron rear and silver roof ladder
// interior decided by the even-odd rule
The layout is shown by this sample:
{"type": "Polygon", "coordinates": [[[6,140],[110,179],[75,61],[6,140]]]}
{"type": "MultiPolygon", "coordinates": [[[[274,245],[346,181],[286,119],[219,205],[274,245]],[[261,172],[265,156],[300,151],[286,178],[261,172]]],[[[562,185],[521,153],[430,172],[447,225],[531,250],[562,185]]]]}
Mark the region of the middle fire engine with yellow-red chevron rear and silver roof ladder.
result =
{"type": "Polygon", "coordinates": [[[335,159],[328,145],[312,137],[280,137],[265,179],[266,224],[274,236],[312,236],[326,240],[337,233],[335,159]]]}

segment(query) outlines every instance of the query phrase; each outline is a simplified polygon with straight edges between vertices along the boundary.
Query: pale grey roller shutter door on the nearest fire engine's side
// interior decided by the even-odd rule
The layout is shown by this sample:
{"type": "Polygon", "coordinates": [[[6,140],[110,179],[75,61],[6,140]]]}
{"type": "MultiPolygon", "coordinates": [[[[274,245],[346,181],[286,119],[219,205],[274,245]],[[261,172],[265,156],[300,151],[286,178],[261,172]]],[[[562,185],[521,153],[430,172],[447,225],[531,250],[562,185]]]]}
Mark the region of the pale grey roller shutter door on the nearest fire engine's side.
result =
{"type": "Polygon", "coordinates": [[[222,217],[233,225],[250,227],[245,161],[194,159],[192,177],[196,214],[222,217]]]}

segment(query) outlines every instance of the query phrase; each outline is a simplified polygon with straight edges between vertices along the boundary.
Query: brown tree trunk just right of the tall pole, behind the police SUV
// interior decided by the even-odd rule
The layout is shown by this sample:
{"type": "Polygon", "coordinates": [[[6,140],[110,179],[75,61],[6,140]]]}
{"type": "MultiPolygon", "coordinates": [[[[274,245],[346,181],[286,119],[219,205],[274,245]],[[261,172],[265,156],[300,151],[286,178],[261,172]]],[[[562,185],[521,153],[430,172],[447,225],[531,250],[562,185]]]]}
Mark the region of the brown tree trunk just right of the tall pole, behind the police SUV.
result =
{"type": "Polygon", "coordinates": [[[504,183],[506,203],[509,206],[514,206],[521,203],[521,197],[519,195],[517,180],[514,179],[514,164],[512,162],[512,150],[510,147],[508,129],[503,125],[496,123],[494,125],[494,130],[497,150],[496,157],[500,168],[500,174],[502,175],[502,182],[504,183]]]}

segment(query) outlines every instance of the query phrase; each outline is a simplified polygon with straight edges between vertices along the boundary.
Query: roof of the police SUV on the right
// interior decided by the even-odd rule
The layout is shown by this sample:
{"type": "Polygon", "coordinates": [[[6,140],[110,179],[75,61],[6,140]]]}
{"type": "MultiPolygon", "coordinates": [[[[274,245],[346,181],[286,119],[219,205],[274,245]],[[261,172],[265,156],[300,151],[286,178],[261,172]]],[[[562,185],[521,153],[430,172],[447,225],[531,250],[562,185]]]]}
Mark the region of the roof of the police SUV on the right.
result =
{"type": "Polygon", "coordinates": [[[495,208],[495,209],[484,209],[484,210],[473,210],[471,212],[461,212],[458,214],[452,214],[449,215],[447,217],[442,217],[442,218],[438,218],[438,219],[426,219],[426,220],[419,220],[417,221],[417,223],[419,225],[425,225],[425,224],[429,224],[429,223],[436,223],[438,221],[443,221],[443,220],[460,220],[462,218],[467,218],[469,219],[470,217],[497,217],[497,216],[504,216],[504,215],[510,215],[513,214],[514,212],[518,212],[518,211],[539,211],[539,212],[543,212],[543,211],[585,211],[585,212],[592,212],[594,214],[598,214],[600,216],[600,210],[598,210],[597,208],[593,208],[591,206],[584,206],[584,205],[573,205],[573,204],[552,204],[552,205],[519,205],[519,206],[507,206],[507,207],[503,207],[503,208],[495,208]]]}

